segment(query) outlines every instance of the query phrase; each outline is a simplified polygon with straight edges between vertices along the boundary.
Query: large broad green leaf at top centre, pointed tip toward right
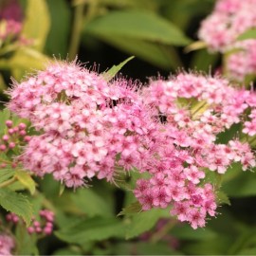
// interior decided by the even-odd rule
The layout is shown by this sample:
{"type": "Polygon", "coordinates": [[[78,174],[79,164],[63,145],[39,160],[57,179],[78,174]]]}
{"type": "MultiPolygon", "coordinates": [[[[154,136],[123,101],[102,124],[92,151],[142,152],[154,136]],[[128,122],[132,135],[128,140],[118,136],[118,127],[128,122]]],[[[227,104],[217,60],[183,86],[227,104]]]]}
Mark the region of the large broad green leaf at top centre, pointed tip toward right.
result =
{"type": "Polygon", "coordinates": [[[86,24],[83,31],[98,37],[124,37],[171,46],[187,46],[191,42],[170,21],[142,10],[109,12],[86,24]]]}

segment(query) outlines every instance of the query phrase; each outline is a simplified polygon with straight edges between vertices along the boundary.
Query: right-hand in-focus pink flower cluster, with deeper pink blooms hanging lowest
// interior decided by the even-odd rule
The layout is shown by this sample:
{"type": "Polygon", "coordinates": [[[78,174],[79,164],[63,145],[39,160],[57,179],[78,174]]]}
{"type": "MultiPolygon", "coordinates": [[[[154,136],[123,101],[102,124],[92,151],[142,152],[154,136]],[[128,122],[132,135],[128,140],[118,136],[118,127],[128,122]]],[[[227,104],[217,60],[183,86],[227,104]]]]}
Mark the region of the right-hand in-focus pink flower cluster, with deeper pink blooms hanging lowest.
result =
{"type": "Polygon", "coordinates": [[[205,170],[224,174],[232,162],[243,170],[256,165],[247,143],[238,139],[216,143],[217,135],[241,121],[251,94],[221,79],[179,74],[153,81],[143,91],[145,103],[166,123],[157,136],[160,147],[147,164],[149,179],[137,181],[136,197],[143,210],[173,206],[171,214],[204,227],[215,215],[216,199],[205,170]]]}

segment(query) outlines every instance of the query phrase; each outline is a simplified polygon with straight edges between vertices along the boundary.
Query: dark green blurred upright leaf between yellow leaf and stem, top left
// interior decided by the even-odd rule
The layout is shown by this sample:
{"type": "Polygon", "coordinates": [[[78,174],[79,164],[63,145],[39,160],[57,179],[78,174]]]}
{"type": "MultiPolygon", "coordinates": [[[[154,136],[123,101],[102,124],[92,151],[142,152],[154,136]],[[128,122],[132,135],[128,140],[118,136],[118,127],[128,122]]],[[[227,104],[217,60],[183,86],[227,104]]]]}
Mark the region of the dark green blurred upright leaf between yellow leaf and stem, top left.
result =
{"type": "Polygon", "coordinates": [[[46,52],[48,55],[60,54],[62,58],[66,58],[71,9],[65,0],[46,0],[46,2],[51,18],[51,26],[46,40],[46,52]]]}

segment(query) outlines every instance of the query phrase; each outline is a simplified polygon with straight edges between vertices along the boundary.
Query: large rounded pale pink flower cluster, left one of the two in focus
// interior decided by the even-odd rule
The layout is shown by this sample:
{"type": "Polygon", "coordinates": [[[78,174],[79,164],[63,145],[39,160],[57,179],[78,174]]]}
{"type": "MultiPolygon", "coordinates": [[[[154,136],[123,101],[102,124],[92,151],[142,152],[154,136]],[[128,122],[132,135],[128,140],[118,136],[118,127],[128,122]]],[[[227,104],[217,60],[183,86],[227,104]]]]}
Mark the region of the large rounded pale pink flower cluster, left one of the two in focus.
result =
{"type": "Polygon", "coordinates": [[[41,131],[21,156],[24,167],[76,188],[93,176],[114,181],[119,165],[140,166],[156,128],[134,86],[76,64],[51,64],[15,84],[9,109],[41,131]]]}

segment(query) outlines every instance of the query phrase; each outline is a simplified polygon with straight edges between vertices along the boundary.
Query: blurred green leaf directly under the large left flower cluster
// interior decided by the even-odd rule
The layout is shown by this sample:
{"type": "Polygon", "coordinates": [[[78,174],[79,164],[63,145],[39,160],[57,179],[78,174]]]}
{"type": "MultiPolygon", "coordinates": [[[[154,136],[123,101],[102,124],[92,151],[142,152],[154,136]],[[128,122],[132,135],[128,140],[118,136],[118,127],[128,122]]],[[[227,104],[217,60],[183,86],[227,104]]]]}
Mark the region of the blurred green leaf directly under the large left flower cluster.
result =
{"type": "Polygon", "coordinates": [[[88,214],[89,217],[94,216],[113,216],[114,212],[111,205],[92,189],[80,189],[70,195],[72,202],[82,212],[88,214]]]}

